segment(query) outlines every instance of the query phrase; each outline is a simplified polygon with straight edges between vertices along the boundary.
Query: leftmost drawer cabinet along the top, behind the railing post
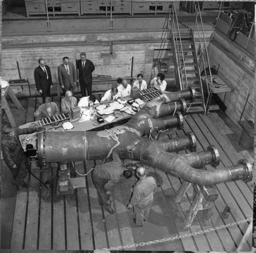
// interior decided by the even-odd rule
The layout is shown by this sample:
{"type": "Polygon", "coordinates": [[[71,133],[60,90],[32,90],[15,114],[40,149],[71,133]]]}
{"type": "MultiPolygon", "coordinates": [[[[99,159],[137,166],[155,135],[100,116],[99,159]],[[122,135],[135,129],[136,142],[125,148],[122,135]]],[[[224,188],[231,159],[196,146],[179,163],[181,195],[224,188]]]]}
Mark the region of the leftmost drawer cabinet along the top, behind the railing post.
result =
{"type": "MultiPolygon", "coordinates": [[[[45,0],[25,0],[27,16],[46,14],[45,0]]],[[[78,14],[80,15],[80,0],[48,0],[49,15],[78,14]]]]}

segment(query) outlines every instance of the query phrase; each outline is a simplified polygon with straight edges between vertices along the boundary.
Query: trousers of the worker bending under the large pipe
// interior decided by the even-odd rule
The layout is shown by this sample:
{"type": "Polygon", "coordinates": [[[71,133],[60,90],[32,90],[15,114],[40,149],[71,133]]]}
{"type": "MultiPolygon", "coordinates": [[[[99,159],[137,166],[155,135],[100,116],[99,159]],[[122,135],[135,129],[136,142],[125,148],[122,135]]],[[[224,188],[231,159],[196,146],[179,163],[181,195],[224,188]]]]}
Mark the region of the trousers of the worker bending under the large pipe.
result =
{"type": "Polygon", "coordinates": [[[104,191],[104,185],[108,183],[108,180],[99,178],[95,169],[92,171],[92,180],[99,195],[99,205],[103,205],[104,207],[110,206],[110,195],[105,194],[104,191]]]}

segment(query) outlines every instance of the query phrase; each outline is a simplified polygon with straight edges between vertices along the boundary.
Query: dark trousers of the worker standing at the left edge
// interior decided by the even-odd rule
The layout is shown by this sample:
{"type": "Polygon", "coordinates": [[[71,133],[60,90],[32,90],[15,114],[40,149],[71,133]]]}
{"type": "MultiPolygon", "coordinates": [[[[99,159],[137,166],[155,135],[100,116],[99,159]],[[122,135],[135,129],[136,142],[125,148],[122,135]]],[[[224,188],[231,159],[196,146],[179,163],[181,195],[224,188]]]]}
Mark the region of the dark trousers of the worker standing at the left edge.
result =
{"type": "Polygon", "coordinates": [[[15,184],[19,185],[24,182],[26,175],[28,174],[29,170],[29,161],[27,157],[22,157],[19,161],[14,161],[17,168],[14,169],[8,165],[9,169],[12,173],[12,178],[15,184]]]}

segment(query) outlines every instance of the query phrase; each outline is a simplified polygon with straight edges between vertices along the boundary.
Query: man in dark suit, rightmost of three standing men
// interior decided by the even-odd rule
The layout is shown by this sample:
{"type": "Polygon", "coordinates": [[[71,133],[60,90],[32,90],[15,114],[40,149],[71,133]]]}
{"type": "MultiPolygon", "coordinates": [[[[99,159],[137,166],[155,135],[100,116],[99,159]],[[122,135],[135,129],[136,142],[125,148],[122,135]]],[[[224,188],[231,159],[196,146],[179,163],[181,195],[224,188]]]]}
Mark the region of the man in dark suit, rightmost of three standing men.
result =
{"type": "Polygon", "coordinates": [[[92,61],[86,59],[86,53],[80,54],[80,60],[76,62],[76,67],[78,69],[78,79],[81,87],[81,93],[82,97],[86,96],[86,90],[87,90],[87,96],[90,96],[92,94],[92,72],[95,69],[94,64],[92,61]]]}

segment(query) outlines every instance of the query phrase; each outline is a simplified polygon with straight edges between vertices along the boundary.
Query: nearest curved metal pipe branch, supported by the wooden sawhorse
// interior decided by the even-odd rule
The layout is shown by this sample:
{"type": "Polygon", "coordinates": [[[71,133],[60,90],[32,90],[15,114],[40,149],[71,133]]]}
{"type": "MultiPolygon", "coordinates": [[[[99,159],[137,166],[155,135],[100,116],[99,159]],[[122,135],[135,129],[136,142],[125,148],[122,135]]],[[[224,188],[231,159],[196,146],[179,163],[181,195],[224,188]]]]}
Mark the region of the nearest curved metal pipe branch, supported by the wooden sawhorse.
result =
{"type": "MultiPolygon", "coordinates": [[[[139,160],[143,164],[153,166],[193,184],[216,185],[236,180],[246,182],[252,180],[252,166],[246,160],[240,161],[238,165],[214,171],[195,169],[190,166],[186,156],[167,153],[154,143],[148,143],[144,139],[137,142],[131,152],[132,159],[139,160]]],[[[191,156],[193,155],[191,154],[191,156]]]]}

